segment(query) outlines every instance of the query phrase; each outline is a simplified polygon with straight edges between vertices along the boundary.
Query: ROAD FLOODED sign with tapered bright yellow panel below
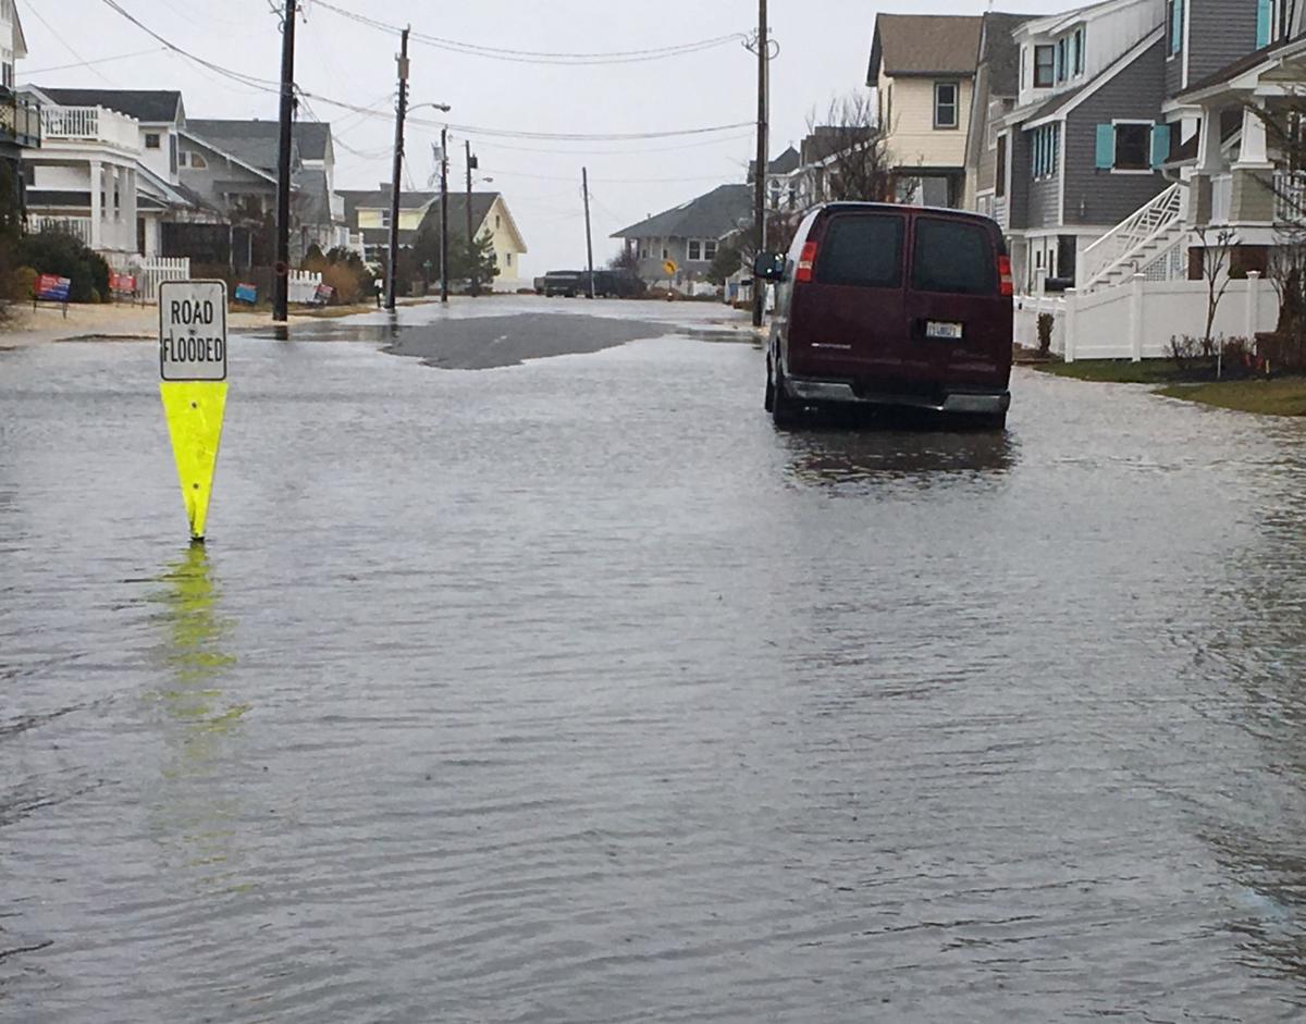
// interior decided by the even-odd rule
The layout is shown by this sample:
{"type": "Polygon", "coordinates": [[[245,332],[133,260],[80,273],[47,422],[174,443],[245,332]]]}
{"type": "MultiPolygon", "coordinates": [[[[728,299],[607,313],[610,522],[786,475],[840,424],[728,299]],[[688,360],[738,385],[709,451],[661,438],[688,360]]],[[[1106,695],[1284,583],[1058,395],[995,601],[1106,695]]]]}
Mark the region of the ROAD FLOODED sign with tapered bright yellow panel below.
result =
{"type": "Polygon", "coordinates": [[[204,539],[227,408],[227,286],[159,286],[159,397],[191,539],[204,539]]]}

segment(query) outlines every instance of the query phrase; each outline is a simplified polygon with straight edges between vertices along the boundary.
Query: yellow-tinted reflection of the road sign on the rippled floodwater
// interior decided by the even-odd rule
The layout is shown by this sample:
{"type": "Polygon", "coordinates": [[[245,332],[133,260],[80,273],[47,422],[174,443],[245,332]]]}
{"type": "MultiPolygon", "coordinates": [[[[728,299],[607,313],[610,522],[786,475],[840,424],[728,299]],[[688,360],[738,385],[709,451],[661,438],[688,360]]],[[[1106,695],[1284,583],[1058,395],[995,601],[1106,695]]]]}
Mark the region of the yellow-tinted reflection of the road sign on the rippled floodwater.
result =
{"type": "Polygon", "coordinates": [[[251,707],[230,701],[222,688],[236,664],[226,649],[232,622],[218,611],[221,593],[204,546],[192,545],[159,581],[158,660],[167,682],[151,696],[163,712],[168,755],[150,818],[163,848],[201,884],[231,887],[239,806],[223,769],[234,761],[251,707]]]}

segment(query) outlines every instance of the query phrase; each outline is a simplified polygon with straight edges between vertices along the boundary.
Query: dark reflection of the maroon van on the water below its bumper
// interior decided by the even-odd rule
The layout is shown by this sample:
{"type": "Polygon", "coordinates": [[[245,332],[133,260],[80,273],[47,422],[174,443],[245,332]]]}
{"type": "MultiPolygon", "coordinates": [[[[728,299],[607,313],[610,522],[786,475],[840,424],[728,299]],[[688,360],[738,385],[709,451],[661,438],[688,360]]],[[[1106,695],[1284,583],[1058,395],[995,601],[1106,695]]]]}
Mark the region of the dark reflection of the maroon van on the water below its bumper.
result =
{"type": "Polygon", "coordinates": [[[791,475],[810,485],[1003,474],[1016,456],[1016,443],[1003,432],[814,430],[786,440],[791,475]]]}

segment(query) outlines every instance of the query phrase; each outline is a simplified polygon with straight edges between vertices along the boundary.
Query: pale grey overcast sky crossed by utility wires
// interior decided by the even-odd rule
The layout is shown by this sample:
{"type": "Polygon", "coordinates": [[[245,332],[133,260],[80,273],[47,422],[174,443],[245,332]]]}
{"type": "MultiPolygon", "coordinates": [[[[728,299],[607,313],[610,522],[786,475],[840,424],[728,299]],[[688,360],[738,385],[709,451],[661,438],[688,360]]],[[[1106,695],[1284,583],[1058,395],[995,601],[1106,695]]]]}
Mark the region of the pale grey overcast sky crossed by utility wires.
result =
{"type": "MultiPolygon", "coordinates": [[[[159,35],[214,64],[276,80],[281,35],[273,0],[116,0],[159,35]]],[[[276,0],[281,5],[283,0],[276,0]]],[[[477,46],[533,52],[613,52],[677,46],[744,34],[756,25],[755,0],[500,0],[401,3],[333,0],[340,8],[477,46]]],[[[923,0],[876,7],[865,0],[771,0],[780,43],[772,65],[772,155],[801,141],[814,108],[865,89],[876,10],[978,14],[985,0],[923,0]]],[[[1027,0],[1004,9],[1050,13],[1074,3],[1027,0]]],[[[276,119],[274,94],[223,78],[168,52],[104,0],[18,0],[30,55],[21,81],[47,86],[180,89],[192,118],[276,119]],[[149,51],[149,52],[141,52],[149,51]],[[124,56],[131,55],[131,56],[124,56]],[[124,57],[102,61],[106,57],[124,57]],[[90,67],[67,67],[90,61],[90,67]],[[47,71],[50,69],[50,71],[47,71]]],[[[380,112],[364,116],[310,101],[337,141],[337,185],[375,188],[390,175],[394,54],[398,39],[342,18],[308,0],[298,34],[300,89],[380,112]]],[[[479,157],[483,188],[502,191],[525,235],[526,276],[579,266],[585,259],[580,168],[593,195],[594,260],[619,248],[609,239],[648,214],[726,182],[743,182],[755,149],[750,128],[713,136],[623,142],[560,142],[487,137],[491,131],[547,133],[671,132],[756,119],[756,63],[739,42],[646,63],[597,67],[496,60],[411,46],[413,102],[443,102],[415,118],[448,118],[457,150],[452,172],[464,183],[462,142],[479,157]]],[[[302,111],[300,116],[310,116],[302,111]]],[[[426,188],[438,127],[411,124],[407,179],[426,188]]],[[[453,149],[453,146],[451,146],[453,149]]]]}

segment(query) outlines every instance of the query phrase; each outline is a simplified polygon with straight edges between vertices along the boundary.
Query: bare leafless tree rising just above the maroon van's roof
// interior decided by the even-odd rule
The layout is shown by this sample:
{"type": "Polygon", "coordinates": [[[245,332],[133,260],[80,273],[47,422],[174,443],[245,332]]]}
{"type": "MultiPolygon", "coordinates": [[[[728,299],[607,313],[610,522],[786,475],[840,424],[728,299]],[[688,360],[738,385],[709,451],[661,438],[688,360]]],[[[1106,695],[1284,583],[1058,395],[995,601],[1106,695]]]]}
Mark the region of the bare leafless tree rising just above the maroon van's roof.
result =
{"type": "Polygon", "coordinates": [[[803,165],[811,167],[818,197],[871,202],[899,199],[899,175],[868,93],[831,101],[823,119],[812,114],[802,155],[803,165]]]}

